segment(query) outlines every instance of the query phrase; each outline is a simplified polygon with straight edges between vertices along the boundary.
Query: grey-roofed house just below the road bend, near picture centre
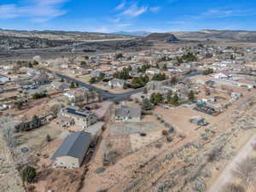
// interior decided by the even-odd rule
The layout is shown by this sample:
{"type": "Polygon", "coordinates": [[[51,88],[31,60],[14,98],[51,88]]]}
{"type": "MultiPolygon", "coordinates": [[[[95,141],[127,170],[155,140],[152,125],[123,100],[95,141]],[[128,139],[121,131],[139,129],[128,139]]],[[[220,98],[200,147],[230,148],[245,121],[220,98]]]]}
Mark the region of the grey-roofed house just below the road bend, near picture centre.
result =
{"type": "Polygon", "coordinates": [[[114,113],[115,120],[121,122],[139,122],[141,120],[141,108],[121,106],[114,113]]]}

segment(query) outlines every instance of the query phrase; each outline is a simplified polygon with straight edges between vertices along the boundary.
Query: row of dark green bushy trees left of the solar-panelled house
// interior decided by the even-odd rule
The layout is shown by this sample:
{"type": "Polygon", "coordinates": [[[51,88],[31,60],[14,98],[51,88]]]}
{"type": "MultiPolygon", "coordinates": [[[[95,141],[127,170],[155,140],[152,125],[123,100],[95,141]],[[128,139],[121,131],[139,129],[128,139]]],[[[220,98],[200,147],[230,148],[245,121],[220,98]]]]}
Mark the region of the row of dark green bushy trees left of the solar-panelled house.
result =
{"type": "Polygon", "coordinates": [[[43,125],[42,119],[40,119],[38,116],[33,116],[31,121],[16,125],[15,131],[16,132],[31,131],[39,128],[42,125],[43,125]]]}

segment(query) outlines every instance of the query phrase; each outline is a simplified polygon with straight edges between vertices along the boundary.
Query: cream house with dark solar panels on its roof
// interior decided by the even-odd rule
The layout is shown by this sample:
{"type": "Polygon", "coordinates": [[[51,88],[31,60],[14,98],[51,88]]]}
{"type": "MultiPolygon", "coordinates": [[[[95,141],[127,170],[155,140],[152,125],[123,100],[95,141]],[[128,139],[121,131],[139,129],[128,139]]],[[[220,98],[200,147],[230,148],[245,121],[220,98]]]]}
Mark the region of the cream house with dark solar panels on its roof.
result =
{"type": "Polygon", "coordinates": [[[88,110],[80,110],[76,107],[64,108],[61,110],[61,115],[74,120],[75,125],[81,125],[86,128],[96,123],[96,115],[88,110]]]}

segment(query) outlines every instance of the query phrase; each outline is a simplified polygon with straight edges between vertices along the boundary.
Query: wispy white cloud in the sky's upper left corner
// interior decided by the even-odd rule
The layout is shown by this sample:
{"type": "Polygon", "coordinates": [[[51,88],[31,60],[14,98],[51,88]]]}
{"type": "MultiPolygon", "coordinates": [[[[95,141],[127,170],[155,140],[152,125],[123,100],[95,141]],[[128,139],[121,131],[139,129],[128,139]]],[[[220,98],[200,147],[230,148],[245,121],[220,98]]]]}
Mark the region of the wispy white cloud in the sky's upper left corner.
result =
{"type": "Polygon", "coordinates": [[[0,5],[0,19],[29,18],[35,22],[44,22],[67,12],[61,9],[67,0],[23,0],[25,5],[0,5]]]}

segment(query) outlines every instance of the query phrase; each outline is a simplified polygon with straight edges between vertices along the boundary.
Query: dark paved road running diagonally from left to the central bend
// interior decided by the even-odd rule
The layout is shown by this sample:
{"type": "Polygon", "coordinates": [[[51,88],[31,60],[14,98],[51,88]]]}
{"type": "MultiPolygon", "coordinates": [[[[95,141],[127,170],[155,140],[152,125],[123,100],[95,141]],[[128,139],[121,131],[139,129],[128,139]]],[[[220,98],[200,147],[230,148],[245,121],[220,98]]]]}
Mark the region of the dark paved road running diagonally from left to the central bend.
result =
{"type": "Polygon", "coordinates": [[[125,92],[125,93],[121,93],[121,94],[115,94],[115,93],[111,93],[109,92],[108,90],[102,90],[100,88],[97,88],[91,84],[85,84],[84,82],[82,81],[79,81],[77,79],[73,79],[71,77],[68,77],[66,75],[63,75],[61,73],[56,73],[54,71],[51,71],[49,69],[47,69],[47,71],[49,73],[53,73],[55,74],[55,76],[61,78],[61,79],[67,79],[68,81],[72,81],[74,83],[78,83],[80,86],[83,86],[87,89],[90,89],[90,90],[95,90],[98,94],[100,94],[102,96],[102,99],[103,100],[108,100],[108,101],[112,101],[112,102],[121,102],[121,101],[124,101],[126,99],[129,98],[129,96],[132,96],[134,94],[137,94],[138,92],[142,92],[144,90],[144,88],[139,88],[139,89],[136,89],[136,90],[131,90],[131,91],[128,91],[128,92],[125,92]]]}

